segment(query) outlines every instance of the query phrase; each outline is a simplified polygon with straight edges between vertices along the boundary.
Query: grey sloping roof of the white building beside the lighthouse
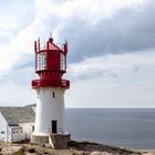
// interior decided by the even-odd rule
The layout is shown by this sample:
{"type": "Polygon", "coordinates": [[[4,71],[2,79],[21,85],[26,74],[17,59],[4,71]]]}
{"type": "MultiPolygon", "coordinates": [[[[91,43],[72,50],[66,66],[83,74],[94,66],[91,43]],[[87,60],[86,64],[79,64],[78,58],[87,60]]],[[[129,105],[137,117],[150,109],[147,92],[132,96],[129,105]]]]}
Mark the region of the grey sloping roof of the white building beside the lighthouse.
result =
{"type": "Polygon", "coordinates": [[[0,112],[9,125],[34,122],[35,113],[31,106],[0,106],[0,112]]]}

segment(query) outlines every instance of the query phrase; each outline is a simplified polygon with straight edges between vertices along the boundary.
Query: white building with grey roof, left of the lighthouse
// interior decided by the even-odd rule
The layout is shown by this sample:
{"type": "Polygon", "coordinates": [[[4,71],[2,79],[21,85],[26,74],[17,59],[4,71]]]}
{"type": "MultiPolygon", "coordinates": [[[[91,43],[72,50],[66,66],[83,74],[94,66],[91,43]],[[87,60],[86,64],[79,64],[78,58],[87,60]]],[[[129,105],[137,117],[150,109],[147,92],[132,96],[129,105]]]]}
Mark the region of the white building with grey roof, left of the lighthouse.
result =
{"type": "Polygon", "coordinates": [[[0,141],[30,140],[34,131],[34,106],[0,106],[0,141]]]}

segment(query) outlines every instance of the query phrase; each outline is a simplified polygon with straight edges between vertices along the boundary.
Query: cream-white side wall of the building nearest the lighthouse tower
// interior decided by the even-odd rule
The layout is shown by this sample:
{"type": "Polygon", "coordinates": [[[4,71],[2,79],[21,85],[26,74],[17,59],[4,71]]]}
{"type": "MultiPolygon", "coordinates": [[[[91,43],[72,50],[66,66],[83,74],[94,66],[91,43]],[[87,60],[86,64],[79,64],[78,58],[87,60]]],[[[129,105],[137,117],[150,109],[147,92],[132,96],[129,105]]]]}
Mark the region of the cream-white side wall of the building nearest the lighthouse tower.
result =
{"type": "Polygon", "coordinates": [[[34,126],[34,122],[31,123],[21,123],[19,124],[22,127],[22,133],[23,133],[23,140],[30,140],[31,138],[31,134],[32,134],[32,130],[34,126]]]}

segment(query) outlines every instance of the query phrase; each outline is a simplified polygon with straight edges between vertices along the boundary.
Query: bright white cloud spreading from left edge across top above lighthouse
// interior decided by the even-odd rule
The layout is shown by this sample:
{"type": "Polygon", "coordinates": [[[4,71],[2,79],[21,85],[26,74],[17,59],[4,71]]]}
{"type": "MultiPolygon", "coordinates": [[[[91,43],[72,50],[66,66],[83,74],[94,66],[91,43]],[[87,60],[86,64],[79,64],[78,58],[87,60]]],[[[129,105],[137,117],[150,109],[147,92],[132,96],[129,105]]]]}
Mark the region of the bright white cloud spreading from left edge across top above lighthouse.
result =
{"type": "Polygon", "coordinates": [[[11,69],[20,60],[24,60],[24,54],[31,54],[33,52],[33,41],[39,37],[44,39],[52,31],[53,35],[58,38],[59,28],[65,25],[65,22],[69,22],[72,18],[81,18],[90,25],[101,18],[113,14],[115,10],[123,6],[133,7],[143,2],[144,0],[136,2],[122,0],[116,0],[115,2],[112,0],[58,2],[54,0],[35,0],[34,7],[30,1],[21,3],[17,0],[12,2],[11,7],[13,8],[9,8],[8,13],[4,11],[4,16],[0,14],[0,34],[6,35],[7,40],[10,40],[10,42],[0,46],[0,61],[3,63],[0,66],[0,71],[11,69]]]}

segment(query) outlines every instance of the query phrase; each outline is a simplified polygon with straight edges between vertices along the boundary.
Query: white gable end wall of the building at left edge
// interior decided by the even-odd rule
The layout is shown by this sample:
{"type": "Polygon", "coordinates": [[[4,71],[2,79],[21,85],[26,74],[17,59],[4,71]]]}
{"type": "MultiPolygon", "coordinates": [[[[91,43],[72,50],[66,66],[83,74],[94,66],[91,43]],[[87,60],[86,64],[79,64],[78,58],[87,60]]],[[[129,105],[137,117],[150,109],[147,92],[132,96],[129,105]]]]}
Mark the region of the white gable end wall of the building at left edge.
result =
{"type": "Polygon", "coordinates": [[[0,113],[0,141],[8,142],[8,123],[0,113]]]}

